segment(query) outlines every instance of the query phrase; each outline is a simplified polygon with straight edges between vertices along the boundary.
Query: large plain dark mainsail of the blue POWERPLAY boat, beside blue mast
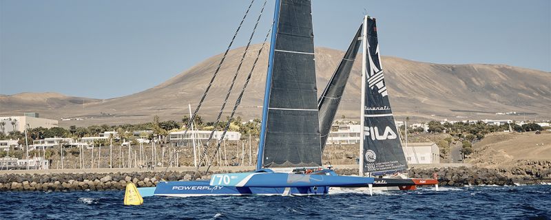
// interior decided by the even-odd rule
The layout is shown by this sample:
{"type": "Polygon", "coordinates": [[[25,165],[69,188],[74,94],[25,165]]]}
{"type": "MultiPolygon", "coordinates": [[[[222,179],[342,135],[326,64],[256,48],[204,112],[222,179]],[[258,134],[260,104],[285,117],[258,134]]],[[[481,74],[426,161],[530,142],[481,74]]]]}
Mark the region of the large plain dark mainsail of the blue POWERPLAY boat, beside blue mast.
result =
{"type": "MultiPolygon", "coordinates": [[[[276,1],[263,167],[322,165],[311,2],[276,1]]],[[[268,86],[268,85],[267,85],[268,86]]],[[[261,137],[262,138],[262,137],[261,137]]],[[[261,144],[262,145],[262,144],[261,144]]]]}

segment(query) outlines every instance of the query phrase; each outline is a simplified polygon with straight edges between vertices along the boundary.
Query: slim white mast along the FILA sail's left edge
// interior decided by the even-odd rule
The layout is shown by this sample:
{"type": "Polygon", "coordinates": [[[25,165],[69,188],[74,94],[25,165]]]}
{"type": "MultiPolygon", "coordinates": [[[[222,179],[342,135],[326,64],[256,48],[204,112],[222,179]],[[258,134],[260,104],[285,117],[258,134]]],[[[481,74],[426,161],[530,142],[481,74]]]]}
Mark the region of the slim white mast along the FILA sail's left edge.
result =
{"type": "Polygon", "coordinates": [[[365,121],[365,96],[366,96],[366,54],[367,54],[367,15],[364,16],[364,28],[362,33],[362,106],[360,107],[360,177],[364,175],[364,121],[365,121]]]}

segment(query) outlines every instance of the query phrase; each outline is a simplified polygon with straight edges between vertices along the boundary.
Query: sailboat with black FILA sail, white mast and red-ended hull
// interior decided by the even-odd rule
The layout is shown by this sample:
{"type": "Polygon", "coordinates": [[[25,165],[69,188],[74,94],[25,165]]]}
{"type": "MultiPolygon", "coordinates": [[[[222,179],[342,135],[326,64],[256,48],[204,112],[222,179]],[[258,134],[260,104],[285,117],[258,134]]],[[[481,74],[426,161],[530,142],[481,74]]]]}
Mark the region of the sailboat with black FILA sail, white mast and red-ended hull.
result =
{"type": "Polygon", "coordinates": [[[437,179],[409,179],[408,164],[394,122],[381,64],[375,18],[364,17],[362,99],[360,110],[360,176],[375,177],[373,187],[413,190],[437,179]]]}

